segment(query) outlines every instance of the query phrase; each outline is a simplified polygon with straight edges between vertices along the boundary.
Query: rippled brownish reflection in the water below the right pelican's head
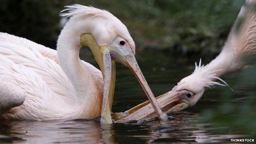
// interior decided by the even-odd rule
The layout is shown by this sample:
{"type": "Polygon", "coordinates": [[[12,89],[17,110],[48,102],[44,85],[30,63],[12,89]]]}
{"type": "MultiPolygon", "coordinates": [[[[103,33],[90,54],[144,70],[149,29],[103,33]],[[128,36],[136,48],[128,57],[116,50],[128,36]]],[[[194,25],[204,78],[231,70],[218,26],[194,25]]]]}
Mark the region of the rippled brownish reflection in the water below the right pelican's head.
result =
{"type": "Polygon", "coordinates": [[[229,142],[230,138],[242,137],[242,135],[217,135],[213,134],[213,129],[209,128],[210,124],[207,123],[195,123],[193,122],[195,117],[193,113],[179,112],[175,114],[175,117],[185,117],[189,114],[190,117],[179,119],[175,121],[168,121],[166,123],[160,123],[162,129],[159,129],[158,125],[152,125],[149,132],[150,139],[146,141],[147,144],[153,142],[164,142],[162,139],[172,139],[172,142],[182,143],[182,141],[195,143],[210,143],[210,142],[229,142]],[[168,127],[169,126],[169,127],[168,127]],[[172,127],[172,128],[170,128],[172,127]]]}

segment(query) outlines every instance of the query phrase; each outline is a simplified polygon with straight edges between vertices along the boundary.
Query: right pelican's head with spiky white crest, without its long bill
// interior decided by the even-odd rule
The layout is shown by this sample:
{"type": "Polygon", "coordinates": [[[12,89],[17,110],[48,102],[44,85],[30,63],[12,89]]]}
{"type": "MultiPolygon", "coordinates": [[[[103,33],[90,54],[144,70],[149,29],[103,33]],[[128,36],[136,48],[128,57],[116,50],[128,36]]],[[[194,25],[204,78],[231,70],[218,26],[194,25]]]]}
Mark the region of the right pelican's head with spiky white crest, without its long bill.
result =
{"type": "Polygon", "coordinates": [[[168,94],[171,99],[176,98],[176,101],[172,102],[175,105],[171,107],[171,111],[179,111],[195,105],[203,96],[206,88],[210,88],[213,85],[228,86],[226,82],[216,76],[217,71],[211,71],[207,65],[201,65],[201,59],[198,66],[195,63],[194,72],[178,82],[171,90],[171,93],[168,94]],[[216,79],[224,84],[215,82],[216,79]]]}

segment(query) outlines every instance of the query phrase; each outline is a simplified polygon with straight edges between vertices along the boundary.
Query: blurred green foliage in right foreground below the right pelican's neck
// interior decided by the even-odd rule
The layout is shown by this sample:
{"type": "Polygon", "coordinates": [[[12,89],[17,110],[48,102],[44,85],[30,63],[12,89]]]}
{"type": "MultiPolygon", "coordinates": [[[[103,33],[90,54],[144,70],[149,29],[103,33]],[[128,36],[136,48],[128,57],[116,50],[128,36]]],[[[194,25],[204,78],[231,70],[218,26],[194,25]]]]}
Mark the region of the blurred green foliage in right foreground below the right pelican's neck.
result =
{"type": "Polygon", "coordinates": [[[236,75],[231,81],[236,90],[223,90],[223,102],[214,109],[203,110],[202,121],[242,131],[248,137],[256,136],[256,81],[252,78],[255,69],[254,66],[236,75]]]}

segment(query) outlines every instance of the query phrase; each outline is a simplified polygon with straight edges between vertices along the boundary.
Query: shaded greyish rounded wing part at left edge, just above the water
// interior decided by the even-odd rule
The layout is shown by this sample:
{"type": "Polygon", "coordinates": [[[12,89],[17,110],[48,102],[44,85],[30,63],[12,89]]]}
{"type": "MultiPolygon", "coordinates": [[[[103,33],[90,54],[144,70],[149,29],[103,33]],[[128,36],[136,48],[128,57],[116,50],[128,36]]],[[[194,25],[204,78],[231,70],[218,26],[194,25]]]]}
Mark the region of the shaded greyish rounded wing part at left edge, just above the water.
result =
{"type": "Polygon", "coordinates": [[[14,83],[0,78],[0,114],[25,101],[24,91],[14,83]]]}

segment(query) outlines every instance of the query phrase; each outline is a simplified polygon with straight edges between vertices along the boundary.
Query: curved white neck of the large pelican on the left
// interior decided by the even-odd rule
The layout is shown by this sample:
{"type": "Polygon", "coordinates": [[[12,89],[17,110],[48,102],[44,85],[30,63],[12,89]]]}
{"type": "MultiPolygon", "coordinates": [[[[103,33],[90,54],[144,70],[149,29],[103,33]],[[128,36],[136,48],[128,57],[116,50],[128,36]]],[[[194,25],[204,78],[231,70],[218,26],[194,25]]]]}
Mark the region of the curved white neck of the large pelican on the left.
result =
{"type": "Polygon", "coordinates": [[[79,27],[67,23],[59,35],[57,53],[59,65],[75,88],[77,109],[84,114],[101,105],[102,94],[94,76],[79,58],[80,35],[79,27]]]}

